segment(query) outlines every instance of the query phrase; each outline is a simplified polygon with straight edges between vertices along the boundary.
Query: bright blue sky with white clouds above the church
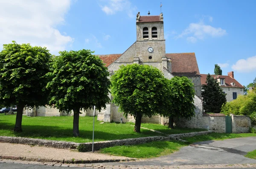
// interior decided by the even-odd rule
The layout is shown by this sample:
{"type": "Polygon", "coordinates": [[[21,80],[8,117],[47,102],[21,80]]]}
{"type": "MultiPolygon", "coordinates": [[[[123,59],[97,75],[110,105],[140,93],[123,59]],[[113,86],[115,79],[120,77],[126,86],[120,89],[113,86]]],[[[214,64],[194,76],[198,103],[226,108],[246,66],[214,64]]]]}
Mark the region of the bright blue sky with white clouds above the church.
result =
{"type": "Polygon", "coordinates": [[[0,50],[18,43],[46,46],[52,54],[90,49],[122,54],[136,41],[136,14],[164,17],[166,53],[195,52],[200,73],[248,85],[256,77],[255,0],[0,0],[0,50]]]}

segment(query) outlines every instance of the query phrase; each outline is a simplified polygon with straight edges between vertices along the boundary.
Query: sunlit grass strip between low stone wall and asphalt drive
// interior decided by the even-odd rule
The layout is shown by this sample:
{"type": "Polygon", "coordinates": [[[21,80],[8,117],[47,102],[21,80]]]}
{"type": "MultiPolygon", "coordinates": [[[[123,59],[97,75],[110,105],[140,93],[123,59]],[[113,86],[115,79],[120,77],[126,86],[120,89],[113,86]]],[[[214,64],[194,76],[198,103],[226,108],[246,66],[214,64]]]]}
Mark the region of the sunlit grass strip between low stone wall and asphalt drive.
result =
{"type": "MultiPolygon", "coordinates": [[[[182,146],[188,146],[189,144],[198,141],[207,140],[224,140],[228,138],[238,137],[252,137],[256,136],[254,133],[241,133],[241,134],[224,134],[224,133],[210,133],[209,135],[199,135],[195,137],[182,138],[188,142],[181,141],[155,141],[145,144],[137,144],[131,146],[114,146],[101,149],[100,152],[116,155],[125,156],[130,158],[153,158],[162,155],[171,154],[172,152],[179,150],[182,146]]],[[[254,157],[256,152],[254,151],[254,157]]]]}

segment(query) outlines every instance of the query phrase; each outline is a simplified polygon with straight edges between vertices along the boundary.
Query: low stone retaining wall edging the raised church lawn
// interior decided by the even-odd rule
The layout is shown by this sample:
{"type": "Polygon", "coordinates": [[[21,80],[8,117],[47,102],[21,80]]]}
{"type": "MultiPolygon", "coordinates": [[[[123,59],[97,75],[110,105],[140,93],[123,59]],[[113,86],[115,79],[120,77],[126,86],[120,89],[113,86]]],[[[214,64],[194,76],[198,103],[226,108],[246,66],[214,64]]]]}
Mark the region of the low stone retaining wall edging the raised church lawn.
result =
{"type": "MultiPolygon", "coordinates": [[[[152,142],[152,141],[169,141],[172,139],[178,140],[179,138],[182,138],[182,137],[205,135],[205,134],[209,134],[211,132],[212,131],[189,132],[189,133],[181,133],[181,134],[172,134],[172,135],[168,135],[168,136],[152,136],[152,137],[141,137],[141,138],[127,138],[127,139],[122,139],[122,140],[97,141],[97,142],[94,142],[93,148],[94,148],[94,150],[97,151],[97,150],[105,148],[105,147],[143,144],[143,143],[148,143],[148,142],[152,142]]],[[[38,139],[38,138],[0,136],[0,142],[39,145],[39,146],[46,146],[46,147],[52,147],[52,148],[58,148],[58,149],[76,149],[77,147],[81,147],[81,149],[79,150],[81,152],[90,152],[92,149],[92,143],[52,141],[52,140],[44,140],[44,139],[38,139]]]]}

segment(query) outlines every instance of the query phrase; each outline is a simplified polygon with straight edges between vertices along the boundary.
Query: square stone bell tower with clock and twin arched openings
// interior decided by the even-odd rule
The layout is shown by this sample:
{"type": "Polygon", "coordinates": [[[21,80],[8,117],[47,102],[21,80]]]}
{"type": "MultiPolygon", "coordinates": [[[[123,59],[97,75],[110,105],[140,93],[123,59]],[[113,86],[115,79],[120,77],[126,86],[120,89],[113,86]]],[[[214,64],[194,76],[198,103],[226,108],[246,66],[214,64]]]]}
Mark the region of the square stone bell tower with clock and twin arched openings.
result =
{"type": "MultiPolygon", "coordinates": [[[[163,14],[136,17],[136,56],[140,64],[153,65],[162,70],[162,60],[166,59],[166,46],[163,34],[163,14]]],[[[166,67],[166,65],[163,65],[166,67]]]]}

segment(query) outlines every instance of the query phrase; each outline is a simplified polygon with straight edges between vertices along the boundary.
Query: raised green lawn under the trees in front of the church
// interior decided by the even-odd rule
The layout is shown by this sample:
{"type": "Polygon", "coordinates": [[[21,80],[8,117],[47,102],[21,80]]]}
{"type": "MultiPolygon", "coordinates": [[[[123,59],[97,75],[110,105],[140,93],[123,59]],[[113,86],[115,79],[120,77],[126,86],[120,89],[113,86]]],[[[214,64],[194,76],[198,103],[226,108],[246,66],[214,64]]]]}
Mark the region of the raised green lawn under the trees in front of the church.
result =
{"type": "MultiPolygon", "coordinates": [[[[80,137],[73,137],[73,116],[61,117],[27,117],[22,118],[21,133],[15,133],[11,130],[15,125],[16,115],[0,114],[0,135],[17,136],[28,138],[41,138],[47,140],[73,141],[77,143],[91,142],[93,135],[93,117],[80,117],[79,131],[80,137]]],[[[97,117],[95,117],[97,119],[97,117]]],[[[104,123],[95,120],[94,141],[105,141],[125,138],[138,138],[147,136],[162,135],[150,130],[141,129],[141,133],[134,132],[134,126],[131,124],[104,123]]],[[[142,124],[143,127],[159,130],[160,132],[183,133],[193,132],[196,129],[168,129],[160,124],[142,124]]]]}

